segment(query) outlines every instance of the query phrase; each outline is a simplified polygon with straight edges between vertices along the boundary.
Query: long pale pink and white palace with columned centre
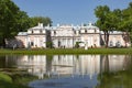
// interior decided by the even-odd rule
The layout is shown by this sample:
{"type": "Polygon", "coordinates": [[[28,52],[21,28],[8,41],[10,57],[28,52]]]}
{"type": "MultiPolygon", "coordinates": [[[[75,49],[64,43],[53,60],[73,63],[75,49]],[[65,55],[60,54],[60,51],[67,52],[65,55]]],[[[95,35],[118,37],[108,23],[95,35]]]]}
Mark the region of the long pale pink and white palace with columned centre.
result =
{"type": "MultiPolygon", "coordinates": [[[[15,36],[19,47],[47,47],[47,43],[52,43],[54,48],[74,48],[77,44],[79,47],[101,47],[105,45],[105,33],[99,28],[89,23],[88,25],[74,26],[67,24],[57,24],[56,26],[37,26],[31,28],[28,32],[19,32],[15,36]]],[[[109,33],[109,46],[121,47],[130,46],[127,41],[127,34],[120,31],[111,31],[109,33]]]]}

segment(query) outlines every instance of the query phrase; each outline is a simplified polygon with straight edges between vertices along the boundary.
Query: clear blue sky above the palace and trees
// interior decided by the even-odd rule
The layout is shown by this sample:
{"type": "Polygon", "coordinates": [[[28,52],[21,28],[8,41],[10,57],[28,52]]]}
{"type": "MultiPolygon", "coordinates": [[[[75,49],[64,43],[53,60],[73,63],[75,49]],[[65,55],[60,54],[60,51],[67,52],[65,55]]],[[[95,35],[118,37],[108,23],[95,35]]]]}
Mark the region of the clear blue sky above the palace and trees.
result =
{"type": "Polygon", "coordinates": [[[113,9],[125,9],[132,0],[12,0],[30,16],[48,16],[56,24],[95,23],[95,9],[108,6],[113,9]]]}

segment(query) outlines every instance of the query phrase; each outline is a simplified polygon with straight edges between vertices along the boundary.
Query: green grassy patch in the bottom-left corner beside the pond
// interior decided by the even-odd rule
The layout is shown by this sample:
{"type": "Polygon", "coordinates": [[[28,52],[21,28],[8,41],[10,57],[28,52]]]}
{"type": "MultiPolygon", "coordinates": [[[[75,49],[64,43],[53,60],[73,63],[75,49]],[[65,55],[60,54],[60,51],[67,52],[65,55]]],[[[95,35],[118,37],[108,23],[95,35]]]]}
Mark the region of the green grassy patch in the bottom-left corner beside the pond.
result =
{"type": "Polygon", "coordinates": [[[35,77],[28,74],[0,73],[0,88],[30,88],[28,82],[34,79],[35,77]]]}

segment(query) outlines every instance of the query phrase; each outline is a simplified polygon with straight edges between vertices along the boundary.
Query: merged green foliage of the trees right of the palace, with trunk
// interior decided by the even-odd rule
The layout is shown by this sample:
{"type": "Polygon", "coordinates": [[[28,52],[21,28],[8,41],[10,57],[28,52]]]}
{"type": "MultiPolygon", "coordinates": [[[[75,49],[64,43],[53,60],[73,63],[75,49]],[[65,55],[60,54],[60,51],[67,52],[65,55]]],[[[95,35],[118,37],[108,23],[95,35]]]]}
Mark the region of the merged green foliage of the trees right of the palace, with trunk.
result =
{"type": "MultiPolygon", "coordinates": [[[[110,31],[132,32],[132,2],[127,9],[114,9],[113,11],[108,6],[98,6],[95,9],[95,14],[98,18],[96,25],[105,33],[106,47],[108,47],[110,31]]],[[[127,36],[131,35],[127,33],[127,36]]],[[[127,40],[124,42],[127,43],[127,40]]]]}

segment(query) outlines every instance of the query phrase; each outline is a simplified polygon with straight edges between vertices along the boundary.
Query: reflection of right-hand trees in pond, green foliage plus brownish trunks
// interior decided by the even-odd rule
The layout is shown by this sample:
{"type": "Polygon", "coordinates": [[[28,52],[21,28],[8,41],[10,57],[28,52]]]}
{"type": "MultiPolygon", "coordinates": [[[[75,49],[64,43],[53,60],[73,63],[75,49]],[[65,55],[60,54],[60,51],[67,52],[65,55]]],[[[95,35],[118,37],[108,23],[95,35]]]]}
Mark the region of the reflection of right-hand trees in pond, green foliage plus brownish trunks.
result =
{"type": "Polygon", "coordinates": [[[131,56],[125,56],[123,70],[110,72],[109,69],[107,69],[107,72],[100,73],[98,75],[98,80],[100,81],[100,84],[98,84],[96,88],[132,88],[131,56]]]}

